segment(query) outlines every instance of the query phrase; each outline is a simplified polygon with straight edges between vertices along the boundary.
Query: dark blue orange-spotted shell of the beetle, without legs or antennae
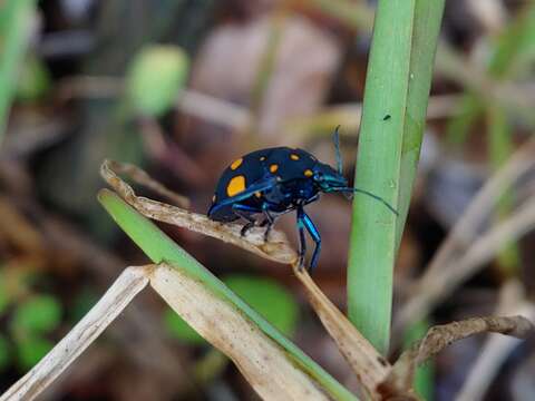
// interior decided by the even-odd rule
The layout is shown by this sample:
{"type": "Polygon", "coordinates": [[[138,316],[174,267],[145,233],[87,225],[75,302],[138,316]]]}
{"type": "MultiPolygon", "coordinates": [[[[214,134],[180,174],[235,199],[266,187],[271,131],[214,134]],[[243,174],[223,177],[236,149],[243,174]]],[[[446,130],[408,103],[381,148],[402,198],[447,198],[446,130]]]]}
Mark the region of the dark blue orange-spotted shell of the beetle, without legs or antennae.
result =
{"type": "Polygon", "coordinates": [[[302,149],[289,147],[274,147],[252,151],[233,163],[223,172],[208,211],[210,218],[218,222],[232,222],[239,218],[233,212],[232,205],[216,207],[221,202],[240,195],[252,185],[275,177],[279,185],[269,190],[252,193],[241,200],[252,207],[261,208],[264,202],[272,204],[271,211],[282,213],[291,207],[289,202],[283,200],[282,188],[285,190],[304,190],[307,197],[313,195],[315,188],[310,180],[318,159],[302,149]],[[290,185],[290,186],[289,186],[290,185]],[[299,187],[299,188],[295,188],[299,187]],[[302,187],[302,188],[301,188],[302,187]],[[275,205],[279,209],[274,209],[275,205]]]}

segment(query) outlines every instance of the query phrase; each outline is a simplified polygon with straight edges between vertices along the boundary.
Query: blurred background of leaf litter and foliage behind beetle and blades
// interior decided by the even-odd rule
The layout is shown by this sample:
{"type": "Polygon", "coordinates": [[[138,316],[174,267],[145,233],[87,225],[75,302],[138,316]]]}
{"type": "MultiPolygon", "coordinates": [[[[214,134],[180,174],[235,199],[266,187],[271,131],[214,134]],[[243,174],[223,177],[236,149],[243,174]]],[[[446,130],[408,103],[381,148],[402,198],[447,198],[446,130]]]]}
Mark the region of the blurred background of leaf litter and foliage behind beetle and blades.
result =
{"type": "MultiPolygon", "coordinates": [[[[148,169],[204,213],[230,160],[285,145],[332,164],[330,133],[341,125],[344,170],[352,179],[373,7],[364,0],[0,4],[0,391],[89,310],[121,268],[146,263],[96,202],[104,158],[148,169]]],[[[534,1],[447,0],[420,170],[396,267],[395,311],[477,189],[533,136],[534,110],[534,1]]],[[[495,219],[505,218],[521,195],[509,190],[495,219]]],[[[337,196],[310,206],[323,236],[314,278],[341,309],[350,213],[337,196]]],[[[292,217],[279,226],[294,236],[292,217]]],[[[164,228],[354,385],[290,268],[164,228]]],[[[493,313],[510,278],[522,281],[533,299],[534,250],[534,234],[505,244],[488,268],[406,340],[431,323],[493,313]]],[[[460,342],[419,374],[426,399],[454,399],[481,343],[460,342]]],[[[485,399],[531,400],[534,378],[531,339],[510,353],[485,399]]],[[[225,356],[146,293],[43,399],[256,395],[225,356]]]]}

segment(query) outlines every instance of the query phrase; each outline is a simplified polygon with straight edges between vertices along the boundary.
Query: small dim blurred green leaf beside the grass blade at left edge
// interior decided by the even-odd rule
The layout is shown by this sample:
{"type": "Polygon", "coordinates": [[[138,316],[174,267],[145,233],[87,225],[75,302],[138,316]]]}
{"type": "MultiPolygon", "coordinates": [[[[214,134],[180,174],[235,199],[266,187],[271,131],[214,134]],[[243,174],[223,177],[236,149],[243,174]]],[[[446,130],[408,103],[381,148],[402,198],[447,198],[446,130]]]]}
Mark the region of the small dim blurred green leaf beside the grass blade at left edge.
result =
{"type": "Polygon", "coordinates": [[[39,100],[50,89],[50,75],[35,56],[28,56],[20,70],[17,99],[25,102],[39,100]]]}

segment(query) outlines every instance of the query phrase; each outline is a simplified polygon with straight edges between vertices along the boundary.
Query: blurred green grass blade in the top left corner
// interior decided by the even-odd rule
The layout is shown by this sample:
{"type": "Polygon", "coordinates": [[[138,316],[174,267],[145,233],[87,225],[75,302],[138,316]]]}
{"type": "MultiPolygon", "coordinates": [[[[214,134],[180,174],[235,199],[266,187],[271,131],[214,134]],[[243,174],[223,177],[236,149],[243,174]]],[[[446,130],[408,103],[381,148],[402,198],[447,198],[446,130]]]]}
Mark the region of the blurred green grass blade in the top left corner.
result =
{"type": "Polygon", "coordinates": [[[6,0],[0,7],[0,143],[25,56],[35,0],[6,0]]]}

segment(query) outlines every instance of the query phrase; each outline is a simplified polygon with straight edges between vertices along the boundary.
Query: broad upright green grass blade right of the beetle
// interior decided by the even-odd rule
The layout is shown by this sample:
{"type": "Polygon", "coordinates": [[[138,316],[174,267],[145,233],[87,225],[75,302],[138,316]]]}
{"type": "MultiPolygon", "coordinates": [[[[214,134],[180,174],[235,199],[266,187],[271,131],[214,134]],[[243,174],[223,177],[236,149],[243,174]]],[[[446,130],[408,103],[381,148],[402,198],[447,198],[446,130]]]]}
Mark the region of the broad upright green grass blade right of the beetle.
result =
{"type": "Polygon", "coordinates": [[[379,0],[356,185],[400,209],[356,196],[348,267],[350,320],[386,353],[392,268],[418,163],[444,0],[379,0]],[[403,187],[401,187],[403,186],[403,187]]]}

